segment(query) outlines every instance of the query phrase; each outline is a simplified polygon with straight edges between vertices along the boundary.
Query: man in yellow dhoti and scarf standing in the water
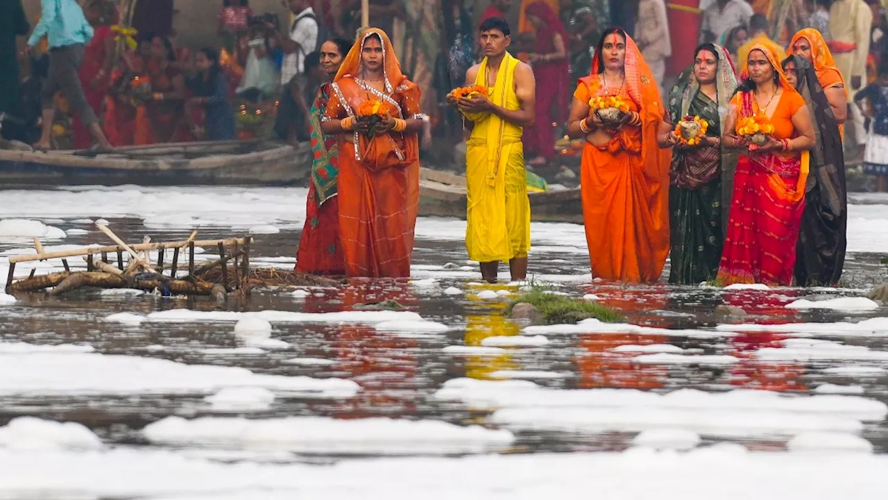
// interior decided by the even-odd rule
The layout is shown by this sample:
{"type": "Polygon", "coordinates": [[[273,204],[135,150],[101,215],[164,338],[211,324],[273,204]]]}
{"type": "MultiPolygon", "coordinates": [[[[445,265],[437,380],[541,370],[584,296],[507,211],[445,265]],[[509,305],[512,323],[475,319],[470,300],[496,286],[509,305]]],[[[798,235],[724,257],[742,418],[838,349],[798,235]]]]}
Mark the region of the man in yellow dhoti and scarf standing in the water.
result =
{"type": "Polygon", "coordinates": [[[465,85],[487,95],[448,97],[472,130],[466,151],[469,258],[481,263],[481,277],[496,283],[500,261],[509,262],[513,281],[527,278],[530,201],[524,169],[523,127],[535,117],[536,84],[527,64],[512,57],[511,29],[502,18],[485,20],[479,35],[484,60],[469,69],[465,85]]]}

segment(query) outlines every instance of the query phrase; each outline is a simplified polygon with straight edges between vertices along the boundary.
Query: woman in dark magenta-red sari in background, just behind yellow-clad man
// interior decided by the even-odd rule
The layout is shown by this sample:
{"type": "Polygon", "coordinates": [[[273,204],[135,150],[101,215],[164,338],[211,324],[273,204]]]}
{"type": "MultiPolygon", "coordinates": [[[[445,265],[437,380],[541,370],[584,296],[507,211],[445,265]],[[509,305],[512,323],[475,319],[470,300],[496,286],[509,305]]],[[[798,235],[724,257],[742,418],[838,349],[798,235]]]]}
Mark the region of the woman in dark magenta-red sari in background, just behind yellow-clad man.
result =
{"type": "Polygon", "coordinates": [[[536,77],[536,120],[524,129],[529,165],[545,165],[555,156],[552,122],[563,124],[570,109],[570,69],[567,63],[567,29],[549,4],[527,5],[527,20],[536,29],[536,49],[528,62],[536,77]]]}

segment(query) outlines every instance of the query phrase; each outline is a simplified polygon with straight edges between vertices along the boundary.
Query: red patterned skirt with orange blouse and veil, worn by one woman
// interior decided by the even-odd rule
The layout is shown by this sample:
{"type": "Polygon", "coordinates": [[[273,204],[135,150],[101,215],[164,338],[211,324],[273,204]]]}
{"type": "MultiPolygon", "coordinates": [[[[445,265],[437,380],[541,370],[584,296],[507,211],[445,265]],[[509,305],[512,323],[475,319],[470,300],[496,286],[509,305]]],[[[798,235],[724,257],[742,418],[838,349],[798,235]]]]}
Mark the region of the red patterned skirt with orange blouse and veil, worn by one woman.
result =
{"type": "MultiPolygon", "coordinates": [[[[783,89],[773,116],[776,139],[796,137],[792,116],[805,106],[781,68],[776,45],[754,45],[752,51],[764,52],[774,71],[780,75],[783,89]]],[[[751,92],[741,92],[731,100],[740,122],[763,111],[751,92]]],[[[798,230],[805,210],[805,182],[808,154],[799,151],[768,151],[741,155],[734,175],[733,202],[722,251],[718,280],[733,283],[765,283],[789,286],[796,264],[798,230]]]]}

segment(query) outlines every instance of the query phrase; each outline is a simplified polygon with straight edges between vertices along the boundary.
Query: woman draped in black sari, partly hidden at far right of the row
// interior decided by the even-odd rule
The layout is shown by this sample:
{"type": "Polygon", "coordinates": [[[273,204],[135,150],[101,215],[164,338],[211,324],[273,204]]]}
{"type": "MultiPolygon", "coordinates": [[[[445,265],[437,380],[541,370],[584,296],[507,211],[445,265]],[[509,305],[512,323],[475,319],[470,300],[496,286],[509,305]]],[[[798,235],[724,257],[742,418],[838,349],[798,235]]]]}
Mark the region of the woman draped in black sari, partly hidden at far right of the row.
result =
{"type": "Polygon", "coordinates": [[[782,66],[789,83],[796,85],[805,98],[817,136],[817,145],[811,149],[805,213],[796,248],[796,284],[834,286],[842,277],[847,246],[848,191],[842,134],[811,63],[791,55],[782,66]]]}

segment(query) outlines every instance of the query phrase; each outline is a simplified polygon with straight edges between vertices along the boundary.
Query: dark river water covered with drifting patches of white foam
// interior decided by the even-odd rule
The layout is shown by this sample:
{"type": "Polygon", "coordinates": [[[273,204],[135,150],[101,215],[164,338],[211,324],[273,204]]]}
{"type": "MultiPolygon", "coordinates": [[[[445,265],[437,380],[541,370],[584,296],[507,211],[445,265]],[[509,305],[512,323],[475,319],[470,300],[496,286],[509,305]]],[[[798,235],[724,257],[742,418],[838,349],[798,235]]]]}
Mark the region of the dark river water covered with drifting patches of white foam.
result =
{"type": "MultiPolygon", "coordinates": [[[[305,220],[302,189],[3,197],[3,280],[33,237],[47,251],[110,244],[100,219],[127,241],[252,234],[253,266],[292,269],[305,220]]],[[[628,324],[504,318],[520,286],[480,284],[465,222],[437,218],[417,222],[409,281],[224,304],[0,295],[0,498],[885,491],[888,310],[865,295],[885,277],[888,197],[852,202],[839,288],[668,286],[668,266],[658,285],[595,282],[582,226],[533,224],[530,281],[628,324]],[[368,307],[388,300],[402,309],[368,307]]]]}

